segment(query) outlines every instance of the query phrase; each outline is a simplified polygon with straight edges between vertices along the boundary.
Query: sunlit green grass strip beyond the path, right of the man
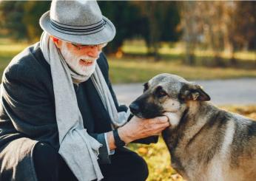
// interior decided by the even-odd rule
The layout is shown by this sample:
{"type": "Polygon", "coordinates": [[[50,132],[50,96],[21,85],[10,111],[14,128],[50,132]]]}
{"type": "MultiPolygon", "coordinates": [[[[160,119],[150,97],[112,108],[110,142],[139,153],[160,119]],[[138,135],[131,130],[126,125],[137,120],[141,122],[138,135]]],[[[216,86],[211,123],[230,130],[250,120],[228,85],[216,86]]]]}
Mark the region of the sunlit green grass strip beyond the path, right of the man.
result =
{"type": "Polygon", "coordinates": [[[144,41],[125,41],[121,58],[110,57],[110,78],[113,83],[145,82],[152,76],[168,72],[181,75],[188,80],[210,80],[228,78],[255,78],[256,52],[237,52],[238,63],[230,65],[229,52],[221,52],[225,67],[216,67],[214,54],[209,50],[195,50],[197,66],[187,66],[182,63],[185,57],[184,44],[161,44],[159,49],[161,60],[155,62],[152,57],[146,57],[144,41]],[[206,66],[208,65],[208,66],[206,66]]]}

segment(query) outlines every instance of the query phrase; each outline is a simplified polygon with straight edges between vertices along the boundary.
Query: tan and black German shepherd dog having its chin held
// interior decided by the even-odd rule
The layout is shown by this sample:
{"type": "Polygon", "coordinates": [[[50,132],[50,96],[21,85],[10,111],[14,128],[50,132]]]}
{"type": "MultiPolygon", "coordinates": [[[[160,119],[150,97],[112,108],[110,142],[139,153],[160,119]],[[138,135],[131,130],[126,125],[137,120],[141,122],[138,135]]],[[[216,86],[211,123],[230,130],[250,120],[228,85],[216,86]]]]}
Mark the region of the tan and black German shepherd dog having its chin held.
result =
{"type": "Polygon", "coordinates": [[[162,135],[172,167],[184,179],[255,181],[256,122],[208,100],[201,86],[161,74],[144,84],[144,94],[129,107],[137,117],[169,117],[162,135]]]}

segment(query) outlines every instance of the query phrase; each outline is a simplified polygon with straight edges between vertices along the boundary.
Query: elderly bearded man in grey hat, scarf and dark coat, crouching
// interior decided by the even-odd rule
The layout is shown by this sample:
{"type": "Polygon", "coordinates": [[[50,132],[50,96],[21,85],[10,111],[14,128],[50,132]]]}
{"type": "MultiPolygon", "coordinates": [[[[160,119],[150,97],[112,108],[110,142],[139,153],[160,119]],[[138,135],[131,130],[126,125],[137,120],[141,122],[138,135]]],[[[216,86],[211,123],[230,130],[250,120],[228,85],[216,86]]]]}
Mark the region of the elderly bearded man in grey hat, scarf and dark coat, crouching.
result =
{"type": "Polygon", "coordinates": [[[53,1],[40,25],[41,41],[4,70],[0,180],[146,180],[146,163],[124,146],[154,142],[169,122],[118,106],[101,52],[114,25],[96,1],[53,1]]]}

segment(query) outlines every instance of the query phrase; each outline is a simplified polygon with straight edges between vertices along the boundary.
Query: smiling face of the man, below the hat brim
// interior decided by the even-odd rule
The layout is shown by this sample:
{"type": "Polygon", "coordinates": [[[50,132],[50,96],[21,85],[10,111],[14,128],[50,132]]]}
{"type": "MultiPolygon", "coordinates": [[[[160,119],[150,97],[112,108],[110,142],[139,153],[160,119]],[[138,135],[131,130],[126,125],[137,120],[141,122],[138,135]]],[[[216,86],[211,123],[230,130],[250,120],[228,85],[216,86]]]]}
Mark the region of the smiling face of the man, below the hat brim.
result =
{"type": "Polygon", "coordinates": [[[70,66],[70,69],[73,69],[79,75],[92,75],[95,70],[96,60],[104,46],[81,46],[66,41],[59,41],[56,45],[61,50],[61,55],[68,66],[70,66]]]}

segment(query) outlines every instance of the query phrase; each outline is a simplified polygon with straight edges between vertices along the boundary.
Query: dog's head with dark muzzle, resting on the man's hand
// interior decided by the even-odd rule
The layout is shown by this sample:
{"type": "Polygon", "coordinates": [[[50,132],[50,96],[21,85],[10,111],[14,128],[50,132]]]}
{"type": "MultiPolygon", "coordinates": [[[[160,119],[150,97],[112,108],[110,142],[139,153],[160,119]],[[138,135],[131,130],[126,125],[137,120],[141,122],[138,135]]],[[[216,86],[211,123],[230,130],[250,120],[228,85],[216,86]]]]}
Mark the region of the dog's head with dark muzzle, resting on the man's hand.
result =
{"type": "Polygon", "coordinates": [[[137,117],[169,115],[169,120],[176,119],[177,122],[186,110],[188,101],[206,100],[210,100],[210,97],[201,86],[186,81],[178,75],[165,73],[156,75],[145,83],[143,95],[133,101],[129,108],[137,117]]]}

